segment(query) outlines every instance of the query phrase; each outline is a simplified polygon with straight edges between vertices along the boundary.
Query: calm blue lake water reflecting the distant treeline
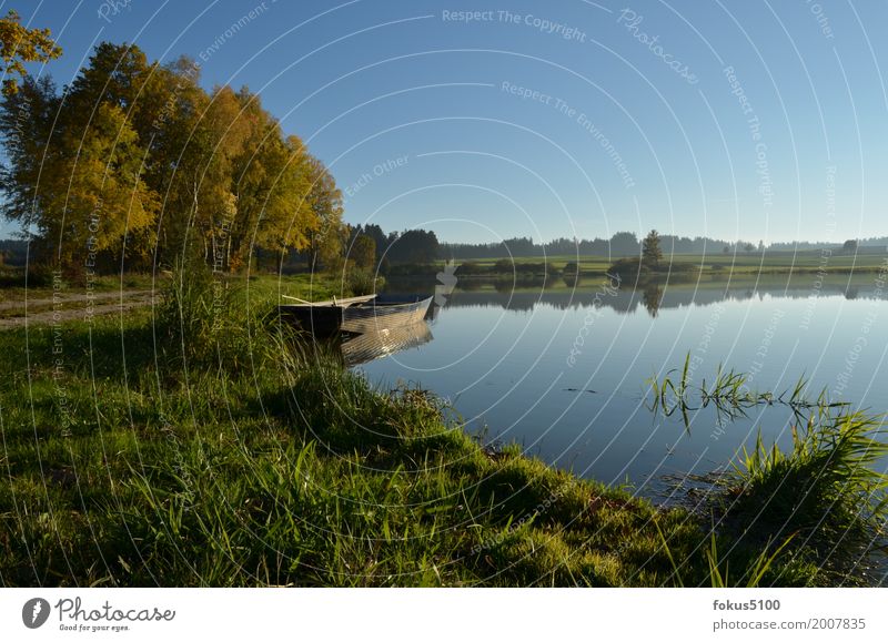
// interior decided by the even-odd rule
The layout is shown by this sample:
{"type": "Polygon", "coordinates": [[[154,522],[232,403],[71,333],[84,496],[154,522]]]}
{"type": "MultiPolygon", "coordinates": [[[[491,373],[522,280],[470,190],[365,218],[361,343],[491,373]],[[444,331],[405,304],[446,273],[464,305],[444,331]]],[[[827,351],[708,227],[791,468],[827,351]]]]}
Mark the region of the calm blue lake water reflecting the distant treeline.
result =
{"type": "Polygon", "coordinates": [[[734,420],[709,407],[687,426],[679,412],[653,412],[646,380],[680,369],[688,353],[696,386],[723,364],[747,373],[751,391],[791,391],[805,376],[809,397],[826,388],[831,400],[888,410],[888,302],[878,278],[803,274],[638,289],[592,277],[536,287],[464,279],[448,294],[438,288],[428,340],[359,369],[383,387],[434,391],[487,440],[667,499],[667,477],[728,466],[759,429],[766,444],[787,446],[796,421],[781,405],[734,420]]]}

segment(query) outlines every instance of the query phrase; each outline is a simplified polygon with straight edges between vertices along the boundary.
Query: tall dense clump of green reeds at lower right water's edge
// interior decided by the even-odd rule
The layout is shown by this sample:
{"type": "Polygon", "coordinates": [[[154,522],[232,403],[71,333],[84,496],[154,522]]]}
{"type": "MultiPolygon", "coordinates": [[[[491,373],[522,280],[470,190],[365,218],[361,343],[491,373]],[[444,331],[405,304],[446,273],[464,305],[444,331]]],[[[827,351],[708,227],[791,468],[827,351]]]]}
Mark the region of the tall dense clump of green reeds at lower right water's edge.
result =
{"type": "Polygon", "coordinates": [[[886,550],[888,476],[878,472],[888,456],[884,417],[862,411],[818,408],[793,429],[788,452],[767,447],[759,434],[755,448],[719,485],[716,510],[744,524],[749,538],[793,537],[788,550],[837,584],[856,583],[867,552],[886,550]]]}

